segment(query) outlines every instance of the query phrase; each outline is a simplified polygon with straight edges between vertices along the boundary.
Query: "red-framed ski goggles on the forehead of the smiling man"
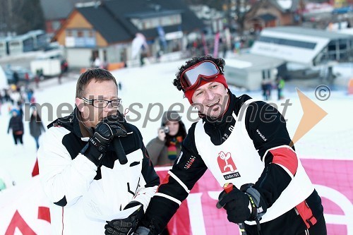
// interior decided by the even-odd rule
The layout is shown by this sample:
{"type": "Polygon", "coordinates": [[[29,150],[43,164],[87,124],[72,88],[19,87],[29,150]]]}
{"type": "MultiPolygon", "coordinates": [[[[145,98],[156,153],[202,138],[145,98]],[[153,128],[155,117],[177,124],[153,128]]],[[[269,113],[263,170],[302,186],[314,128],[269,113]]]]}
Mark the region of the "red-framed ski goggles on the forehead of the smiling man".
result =
{"type": "Polygon", "coordinates": [[[181,73],[181,88],[184,90],[193,90],[200,84],[200,78],[213,80],[218,74],[220,74],[220,69],[213,61],[201,61],[190,68],[186,68],[186,70],[181,73]]]}

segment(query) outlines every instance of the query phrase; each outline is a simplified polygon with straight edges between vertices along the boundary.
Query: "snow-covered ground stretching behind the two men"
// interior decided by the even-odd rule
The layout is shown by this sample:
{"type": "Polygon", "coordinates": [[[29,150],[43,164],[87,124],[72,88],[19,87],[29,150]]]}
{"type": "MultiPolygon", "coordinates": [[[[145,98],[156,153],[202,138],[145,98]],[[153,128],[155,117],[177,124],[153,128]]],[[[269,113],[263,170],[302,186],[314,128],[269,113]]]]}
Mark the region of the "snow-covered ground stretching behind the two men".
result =
{"type": "MultiPolygon", "coordinates": [[[[160,126],[160,117],[169,108],[182,113],[186,128],[189,128],[191,123],[197,119],[197,113],[190,109],[189,102],[183,99],[182,92],[172,85],[172,80],[181,64],[184,64],[184,60],[150,64],[142,68],[124,68],[113,72],[116,80],[122,85],[119,97],[123,99],[123,107],[130,109],[126,114],[126,119],[140,128],[145,144],[155,138],[157,128],[160,126]],[[191,110],[193,112],[190,112],[191,110]]],[[[342,71],[342,73],[346,73],[346,71],[342,71]]],[[[73,108],[77,78],[78,76],[70,79],[63,78],[61,85],[57,83],[56,79],[45,80],[40,84],[40,89],[35,90],[34,95],[37,103],[47,103],[48,106],[49,104],[52,106],[52,110],[49,111],[46,107],[42,109],[44,124],[49,124],[58,115],[66,116],[67,110],[73,108]],[[60,114],[60,110],[66,110],[66,112],[60,114]]],[[[330,93],[328,100],[320,101],[316,98],[313,89],[301,88],[300,85],[298,88],[328,113],[296,144],[299,156],[321,159],[353,159],[353,95],[347,95],[346,90],[336,89],[330,93]]],[[[243,94],[237,88],[232,87],[231,90],[235,95],[243,94]]],[[[284,93],[285,99],[289,99],[289,102],[292,103],[285,112],[285,118],[288,120],[289,134],[293,136],[303,111],[294,86],[285,88],[284,93]]],[[[260,91],[248,92],[248,94],[256,99],[262,99],[260,91]]],[[[277,104],[278,109],[282,112],[283,106],[280,104],[284,101],[278,102],[275,100],[276,97],[277,91],[273,91],[273,100],[270,102],[277,104]]],[[[23,136],[24,145],[14,145],[12,135],[6,134],[8,121],[11,117],[8,114],[8,108],[8,104],[3,104],[1,107],[0,171],[8,171],[16,183],[21,184],[31,177],[30,174],[36,159],[35,140],[29,134],[29,124],[26,121],[23,136]]]]}

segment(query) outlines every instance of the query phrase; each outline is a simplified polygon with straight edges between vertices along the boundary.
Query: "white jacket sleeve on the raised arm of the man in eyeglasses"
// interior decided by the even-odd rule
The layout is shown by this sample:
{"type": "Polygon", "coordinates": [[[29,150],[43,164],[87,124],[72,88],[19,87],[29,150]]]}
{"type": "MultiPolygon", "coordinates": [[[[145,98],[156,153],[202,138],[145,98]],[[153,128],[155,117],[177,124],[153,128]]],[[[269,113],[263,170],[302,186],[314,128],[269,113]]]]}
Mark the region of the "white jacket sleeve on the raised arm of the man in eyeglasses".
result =
{"type": "Polygon", "coordinates": [[[69,207],[88,191],[97,174],[97,167],[81,154],[71,159],[68,150],[61,143],[67,133],[68,130],[63,127],[49,128],[44,134],[37,157],[40,178],[47,197],[52,203],[65,199],[66,205],[61,206],[69,207]]]}

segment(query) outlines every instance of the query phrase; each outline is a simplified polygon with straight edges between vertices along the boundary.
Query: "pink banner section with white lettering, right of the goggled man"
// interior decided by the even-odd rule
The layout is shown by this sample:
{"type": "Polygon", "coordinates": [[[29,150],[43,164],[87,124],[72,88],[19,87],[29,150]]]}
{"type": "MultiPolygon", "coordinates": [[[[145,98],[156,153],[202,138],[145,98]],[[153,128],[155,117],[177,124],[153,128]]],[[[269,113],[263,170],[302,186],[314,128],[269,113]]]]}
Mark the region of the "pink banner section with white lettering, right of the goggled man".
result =
{"type": "Polygon", "coordinates": [[[353,234],[353,161],[301,159],[323,200],[328,234],[353,234]]]}

